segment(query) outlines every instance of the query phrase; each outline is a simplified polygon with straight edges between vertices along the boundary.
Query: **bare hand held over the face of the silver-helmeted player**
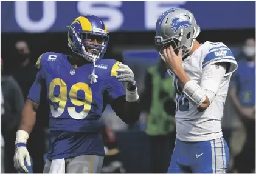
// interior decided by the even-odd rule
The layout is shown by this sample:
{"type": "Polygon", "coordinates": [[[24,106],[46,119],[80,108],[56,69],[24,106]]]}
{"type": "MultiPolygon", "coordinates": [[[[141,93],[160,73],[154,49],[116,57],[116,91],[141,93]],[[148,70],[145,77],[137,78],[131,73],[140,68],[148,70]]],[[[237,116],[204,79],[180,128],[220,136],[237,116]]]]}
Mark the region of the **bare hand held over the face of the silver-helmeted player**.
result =
{"type": "Polygon", "coordinates": [[[182,49],[179,50],[178,55],[175,54],[173,47],[167,47],[162,50],[162,60],[167,65],[168,69],[175,72],[182,68],[182,49]]]}

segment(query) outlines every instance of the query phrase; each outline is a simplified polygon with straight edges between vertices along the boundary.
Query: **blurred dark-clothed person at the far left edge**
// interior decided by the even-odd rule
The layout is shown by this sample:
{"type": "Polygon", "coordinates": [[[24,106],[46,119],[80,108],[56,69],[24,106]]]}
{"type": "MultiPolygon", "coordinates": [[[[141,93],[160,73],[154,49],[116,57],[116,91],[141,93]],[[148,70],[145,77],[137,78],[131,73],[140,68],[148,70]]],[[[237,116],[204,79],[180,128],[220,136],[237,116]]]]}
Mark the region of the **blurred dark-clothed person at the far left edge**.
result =
{"type": "Polygon", "coordinates": [[[4,172],[1,171],[1,173],[16,173],[13,167],[14,142],[24,97],[15,79],[10,75],[3,75],[2,71],[3,61],[1,59],[1,134],[4,140],[4,155],[1,154],[1,158],[4,156],[4,172]]]}

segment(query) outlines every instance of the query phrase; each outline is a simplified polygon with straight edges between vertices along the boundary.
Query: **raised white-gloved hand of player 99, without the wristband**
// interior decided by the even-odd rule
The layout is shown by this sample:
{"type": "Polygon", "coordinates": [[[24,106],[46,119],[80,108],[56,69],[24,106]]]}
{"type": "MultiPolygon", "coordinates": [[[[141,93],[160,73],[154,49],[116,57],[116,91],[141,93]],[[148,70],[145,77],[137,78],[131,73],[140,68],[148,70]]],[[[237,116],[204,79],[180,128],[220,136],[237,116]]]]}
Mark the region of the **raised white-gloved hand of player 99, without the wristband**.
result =
{"type": "Polygon", "coordinates": [[[127,82],[127,89],[130,89],[131,87],[136,85],[136,81],[134,79],[133,71],[128,67],[128,65],[124,65],[122,63],[119,64],[119,69],[117,69],[117,72],[120,72],[121,75],[117,76],[117,79],[119,79],[120,82],[127,82]]]}

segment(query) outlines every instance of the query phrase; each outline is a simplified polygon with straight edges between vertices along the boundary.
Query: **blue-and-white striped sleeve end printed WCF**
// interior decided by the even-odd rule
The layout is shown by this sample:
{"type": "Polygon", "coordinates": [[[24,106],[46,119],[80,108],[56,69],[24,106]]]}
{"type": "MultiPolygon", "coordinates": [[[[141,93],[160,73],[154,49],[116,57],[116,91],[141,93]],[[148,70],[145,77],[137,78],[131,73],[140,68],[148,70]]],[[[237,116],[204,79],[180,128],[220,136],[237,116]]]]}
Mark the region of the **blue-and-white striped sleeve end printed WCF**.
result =
{"type": "Polygon", "coordinates": [[[233,62],[235,61],[234,55],[231,50],[226,46],[213,47],[210,49],[202,62],[202,69],[206,67],[206,65],[212,62],[233,62]]]}

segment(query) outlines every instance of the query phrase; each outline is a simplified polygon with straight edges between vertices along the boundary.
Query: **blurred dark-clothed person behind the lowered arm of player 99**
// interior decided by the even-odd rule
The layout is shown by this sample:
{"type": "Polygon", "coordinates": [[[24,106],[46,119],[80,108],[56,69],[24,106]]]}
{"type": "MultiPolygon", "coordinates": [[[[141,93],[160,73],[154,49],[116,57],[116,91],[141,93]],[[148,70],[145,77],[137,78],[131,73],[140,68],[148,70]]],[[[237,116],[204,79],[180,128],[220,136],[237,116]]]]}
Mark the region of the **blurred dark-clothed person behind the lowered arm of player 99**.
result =
{"type": "MultiPolygon", "coordinates": [[[[35,69],[35,65],[31,62],[30,49],[26,41],[16,42],[15,51],[17,56],[16,59],[18,61],[18,68],[12,74],[21,87],[24,100],[26,100],[27,95],[29,94],[29,89],[36,77],[37,70],[35,69]]],[[[46,97],[43,99],[46,100],[46,97]]],[[[46,113],[47,106],[40,105],[39,110],[42,110],[42,112],[36,112],[36,124],[29,137],[29,141],[27,142],[27,149],[29,149],[30,156],[33,159],[33,173],[43,173],[43,156],[46,151],[44,146],[46,141],[46,133],[44,132],[44,127],[48,124],[48,113],[46,113]]]]}

